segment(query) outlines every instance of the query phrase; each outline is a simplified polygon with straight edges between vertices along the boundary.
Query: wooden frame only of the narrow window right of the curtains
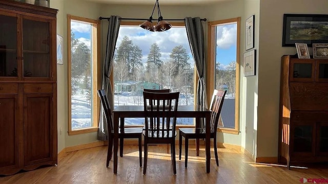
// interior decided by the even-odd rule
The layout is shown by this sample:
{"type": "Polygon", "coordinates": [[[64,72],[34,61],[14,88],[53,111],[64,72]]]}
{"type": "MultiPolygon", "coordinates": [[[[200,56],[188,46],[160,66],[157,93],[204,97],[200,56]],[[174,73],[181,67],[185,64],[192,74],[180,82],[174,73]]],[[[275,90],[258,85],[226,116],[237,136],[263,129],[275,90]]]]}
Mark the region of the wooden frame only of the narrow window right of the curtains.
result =
{"type": "Polygon", "coordinates": [[[218,132],[239,134],[239,91],[240,91],[240,17],[229,18],[224,20],[215,20],[208,22],[208,64],[207,64],[207,98],[208,102],[211,101],[211,97],[214,91],[215,80],[215,53],[216,53],[216,26],[223,24],[230,24],[231,22],[237,22],[237,43],[236,43],[236,94],[235,94],[235,128],[218,127],[218,132]]]}

